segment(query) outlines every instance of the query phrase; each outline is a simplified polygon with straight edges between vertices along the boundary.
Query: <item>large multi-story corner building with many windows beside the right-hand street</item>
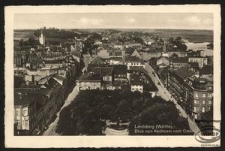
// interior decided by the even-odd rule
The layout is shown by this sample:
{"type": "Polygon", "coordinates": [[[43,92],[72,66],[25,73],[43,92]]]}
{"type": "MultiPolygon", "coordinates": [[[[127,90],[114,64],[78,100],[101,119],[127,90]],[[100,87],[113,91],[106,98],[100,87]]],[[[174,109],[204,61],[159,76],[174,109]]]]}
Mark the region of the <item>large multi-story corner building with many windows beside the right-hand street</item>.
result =
{"type": "Polygon", "coordinates": [[[168,89],[176,100],[194,119],[210,110],[212,105],[213,84],[206,78],[195,76],[189,68],[169,70],[168,89]]]}

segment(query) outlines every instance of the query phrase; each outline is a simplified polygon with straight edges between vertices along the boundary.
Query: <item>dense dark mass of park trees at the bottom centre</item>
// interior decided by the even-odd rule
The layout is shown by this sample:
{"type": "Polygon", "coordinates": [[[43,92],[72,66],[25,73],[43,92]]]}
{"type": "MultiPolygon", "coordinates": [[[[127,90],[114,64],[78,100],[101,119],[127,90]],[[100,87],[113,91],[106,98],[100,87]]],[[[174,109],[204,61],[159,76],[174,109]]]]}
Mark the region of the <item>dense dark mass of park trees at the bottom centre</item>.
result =
{"type": "Polygon", "coordinates": [[[89,90],[81,91],[61,111],[57,132],[63,135],[101,135],[105,126],[102,121],[106,119],[130,121],[130,134],[134,134],[134,126],[140,124],[185,127],[185,121],[178,117],[178,111],[172,102],[166,102],[161,97],[152,98],[148,93],[89,90]]]}

